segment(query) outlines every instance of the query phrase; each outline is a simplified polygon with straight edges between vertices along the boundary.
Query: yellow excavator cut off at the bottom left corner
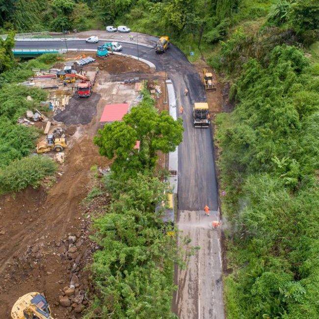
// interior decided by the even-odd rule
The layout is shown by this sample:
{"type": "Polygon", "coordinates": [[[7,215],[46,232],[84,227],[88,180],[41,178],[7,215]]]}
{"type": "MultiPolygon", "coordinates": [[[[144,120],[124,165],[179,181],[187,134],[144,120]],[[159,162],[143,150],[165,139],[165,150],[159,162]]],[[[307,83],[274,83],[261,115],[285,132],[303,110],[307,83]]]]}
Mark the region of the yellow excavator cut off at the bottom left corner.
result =
{"type": "Polygon", "coordinates": [[[12,319],[53,319],[45,296],[39,292],[29,292],[20,297],[12,307],[12,319]]]}

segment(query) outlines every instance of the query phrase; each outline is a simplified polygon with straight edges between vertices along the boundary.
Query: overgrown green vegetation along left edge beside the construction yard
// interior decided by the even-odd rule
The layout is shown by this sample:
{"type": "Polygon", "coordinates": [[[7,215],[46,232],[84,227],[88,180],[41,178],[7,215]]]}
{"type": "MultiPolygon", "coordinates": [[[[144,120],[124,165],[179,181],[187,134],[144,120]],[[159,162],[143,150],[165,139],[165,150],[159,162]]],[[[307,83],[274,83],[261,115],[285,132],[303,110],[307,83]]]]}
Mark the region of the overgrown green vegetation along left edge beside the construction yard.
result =
{"type": "Polygon", "coordinates": [[[59,57],[45,54],[17,63],[11,53],[13,37],[11,34],[5,41],[0,40],[0,48],[4,48],[0,60],[3,71],[0,74],[0,193],[18,191],[28,185],[35,187],[46,173],[50,175],[55,170],[49,159],[24,158],[34,150],[39,133],[33,127],[18,125],[17,119],[24,116],[27,109],[39,108],[39,102],[46,100],[47,94],[17,82],[27,80],[32,68],[47,69],[59,57]]]}

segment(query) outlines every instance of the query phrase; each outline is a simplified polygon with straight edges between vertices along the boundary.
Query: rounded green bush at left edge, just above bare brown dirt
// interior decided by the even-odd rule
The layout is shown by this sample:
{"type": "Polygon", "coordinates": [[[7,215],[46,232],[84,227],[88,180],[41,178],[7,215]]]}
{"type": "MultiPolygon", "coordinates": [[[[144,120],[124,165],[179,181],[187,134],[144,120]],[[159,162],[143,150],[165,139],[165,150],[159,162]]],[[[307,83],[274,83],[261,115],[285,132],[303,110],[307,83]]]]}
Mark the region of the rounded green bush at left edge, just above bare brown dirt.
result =
{"type": "Polygon", "coordinates": [[[53,175],[56,163],[45,156],[30,156],[14,160],[4,169],[0,169],[0,193],[19,191],[27,186],[40,185],[45,176],[53,175]]]}

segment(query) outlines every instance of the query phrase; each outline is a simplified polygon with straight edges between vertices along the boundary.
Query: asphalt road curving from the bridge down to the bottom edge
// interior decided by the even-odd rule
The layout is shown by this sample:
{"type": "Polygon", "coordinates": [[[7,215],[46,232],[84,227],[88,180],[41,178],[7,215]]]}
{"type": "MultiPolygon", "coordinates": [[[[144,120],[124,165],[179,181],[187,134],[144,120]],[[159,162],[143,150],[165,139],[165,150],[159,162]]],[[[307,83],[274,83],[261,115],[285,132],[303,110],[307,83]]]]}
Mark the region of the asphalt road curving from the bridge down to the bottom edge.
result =
{"type": "MultiPolygon", "coordinates": [[[[154,37],[150,37],[154,39],[154,37]]],[[[102,42],[102,41],[101,41],[102,42]]],[[[98,45],[84,41],[68,41],[68,48],[96,49],[98,45]]],[[[187,261],[186,270],[177,273],[178,291],[173,306],[182,319],[223,319],[223,287],[220,258],[220,234],[211,227],[219,219],[217,186],[213,158],[213,137],[209,129],[194,129],[192,105],[205,102],[206,94],[195,68],[186,56],[171,46],[164,54],[136,44],[122,43],[123,52],[140,56],[153,62],[158,71],[166,71],[172,80],[177,98],[177,108],[184,106],[184,140],[179,146],[178,227],[194,246],[200,246],[187,261]],[[189,94],[184,95],[187,87],[189,94]],[[211,216],[205,216],[208,205],[211,216]]],[[[61,48],[63,41],[21,41],[15,48],[61,48]]]]}

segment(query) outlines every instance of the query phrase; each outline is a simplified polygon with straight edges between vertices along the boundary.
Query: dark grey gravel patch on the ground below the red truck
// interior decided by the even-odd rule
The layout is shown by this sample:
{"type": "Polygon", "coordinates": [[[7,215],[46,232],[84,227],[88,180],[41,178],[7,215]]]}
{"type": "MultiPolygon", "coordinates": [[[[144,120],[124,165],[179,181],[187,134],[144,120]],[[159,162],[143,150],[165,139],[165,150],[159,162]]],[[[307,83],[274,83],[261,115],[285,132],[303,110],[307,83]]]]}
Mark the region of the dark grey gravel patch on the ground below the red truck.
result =
{"type": "Polygon", "coordinates": [[[63,111],[54,116],[54,120],[65,124],[88,124],[96,115],[96,105],[100,100],[100,94],[92,93],[88,98],[80,98],[75,95],[70,99],[69,105],[63,111]]]}

